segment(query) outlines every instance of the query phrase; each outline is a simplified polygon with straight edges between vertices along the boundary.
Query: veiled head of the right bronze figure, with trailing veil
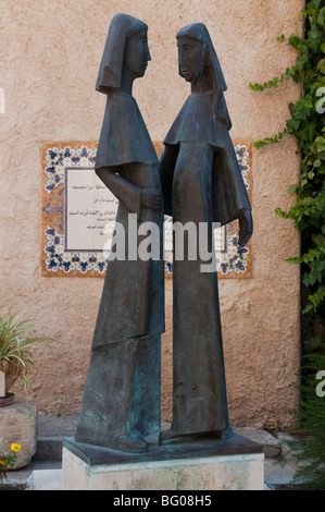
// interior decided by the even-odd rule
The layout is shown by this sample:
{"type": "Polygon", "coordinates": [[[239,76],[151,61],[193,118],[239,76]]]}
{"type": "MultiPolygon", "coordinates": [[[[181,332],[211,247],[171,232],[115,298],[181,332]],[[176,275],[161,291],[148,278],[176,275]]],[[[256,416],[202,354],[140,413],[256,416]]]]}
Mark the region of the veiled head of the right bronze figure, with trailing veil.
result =
{"type": "Polygon", "coordinates": [[[210,73],[213,113],[229,130],[232,122],[224,98],[227,86],[208,28],[203,23],[192,23],[180,28],[176,38],[180,76],[196,84],[204,73],[210,73]]]}

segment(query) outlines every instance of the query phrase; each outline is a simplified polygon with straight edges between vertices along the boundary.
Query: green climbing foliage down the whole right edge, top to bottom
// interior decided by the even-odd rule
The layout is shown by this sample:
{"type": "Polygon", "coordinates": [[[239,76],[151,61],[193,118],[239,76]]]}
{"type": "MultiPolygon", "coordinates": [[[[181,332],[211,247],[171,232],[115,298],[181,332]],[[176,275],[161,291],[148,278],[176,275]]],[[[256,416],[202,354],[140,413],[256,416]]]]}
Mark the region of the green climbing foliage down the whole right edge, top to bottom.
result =
{"type": "MultiPolygon", "coordinates": [[[[291,78],[302,85],[301,97],[289,103],[290,119],[278,135],[257,141],[254,146],[263,148],[279,143],[287,134],[297,139],[301,155],[301,174],[298,183],[290,186],[296,204],[288,210],[276,208],[284,219],[295,221],[301,232],[301,254],[288,258],[290,264],[301,266],[302,284],[308,290],[308,302],[302,314],[308,312],[325,317],[325,7],[324,0],[311,0],[302,11],[304,38],[292,34],[289,44],[298,56],[291,69],[282,76],[262,84],[250,84],[252,90],[278,87],[291,78]]],[[[277,38],[283,44],[285,37],[277,38]]],[[[317,341],[312,351],[310,340],[302,340],[301,401],[298,418],[300,440],[293,442],[299,463],[297,478],[303,478],[309,488],[325,490],[325,397],[316,394],[315,376],[325,370],[325,339],[317,341]],[[307,344],[307,342],[309,344],[307,344]]]]}

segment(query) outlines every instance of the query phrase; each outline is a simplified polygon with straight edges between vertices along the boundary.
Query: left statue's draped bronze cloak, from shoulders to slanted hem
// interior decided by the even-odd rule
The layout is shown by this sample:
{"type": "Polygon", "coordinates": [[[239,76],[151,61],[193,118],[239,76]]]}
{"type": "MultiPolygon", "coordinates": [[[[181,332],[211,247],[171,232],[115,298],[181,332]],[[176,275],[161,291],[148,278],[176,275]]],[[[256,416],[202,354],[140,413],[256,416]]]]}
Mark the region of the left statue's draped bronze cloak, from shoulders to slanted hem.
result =
{"type": "MultiPolygon", "coordinates": [[[[137,184],[142,188],[161,188],[158,157],[137,102],[132,96],[114,93],[108,95],[96,169],[116,167],[123,178],[122,166],[129,162],[148,164],[132,171],[140,173],[137,184]]],[[[164,331],[163,212],[141,207],[139,190],[133,190],[126,184],[116,222],[124,227],[126,259],[108,263],[93,346],[164,331]],[[160,240],[155,242],[161,248],[160,260],[142,261],[139,257],[137,260],[128,260],[130,211],[138,214],[136,229],[145,221],[154,222],[159,227],[160,240]]],[[[140,240],[138,236],[137,245],[140,240]]]]}

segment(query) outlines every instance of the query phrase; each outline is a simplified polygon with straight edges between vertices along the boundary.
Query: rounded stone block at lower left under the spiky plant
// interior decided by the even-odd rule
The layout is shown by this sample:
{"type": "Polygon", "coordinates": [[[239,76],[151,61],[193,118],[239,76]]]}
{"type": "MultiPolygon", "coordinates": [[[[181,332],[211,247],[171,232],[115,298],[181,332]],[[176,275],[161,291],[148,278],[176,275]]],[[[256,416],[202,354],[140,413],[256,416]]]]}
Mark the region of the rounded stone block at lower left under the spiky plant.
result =
{"type": "Polygon", "coordinates": [[[25,401],[0,407],[0,453],[10,452],[12,443],[22,448],[14,467],[20,470],[30,463],[37,448],[37,405],[25,401]]]}

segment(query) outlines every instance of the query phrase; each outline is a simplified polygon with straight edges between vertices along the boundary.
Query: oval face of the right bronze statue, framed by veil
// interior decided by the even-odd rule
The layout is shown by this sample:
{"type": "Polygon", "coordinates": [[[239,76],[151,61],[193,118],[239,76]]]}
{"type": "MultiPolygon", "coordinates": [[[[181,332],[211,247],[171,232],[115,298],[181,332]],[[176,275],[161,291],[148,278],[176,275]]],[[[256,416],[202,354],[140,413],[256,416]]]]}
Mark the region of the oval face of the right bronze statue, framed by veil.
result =
{"type": "Polygon", "coordinates": [[[177,38],[179,74],[186,82],[197,82],[207,65],[207,49],[203,42],[188,36],[177,38]]]}

